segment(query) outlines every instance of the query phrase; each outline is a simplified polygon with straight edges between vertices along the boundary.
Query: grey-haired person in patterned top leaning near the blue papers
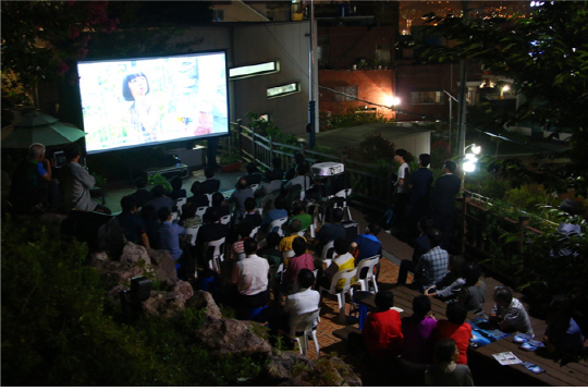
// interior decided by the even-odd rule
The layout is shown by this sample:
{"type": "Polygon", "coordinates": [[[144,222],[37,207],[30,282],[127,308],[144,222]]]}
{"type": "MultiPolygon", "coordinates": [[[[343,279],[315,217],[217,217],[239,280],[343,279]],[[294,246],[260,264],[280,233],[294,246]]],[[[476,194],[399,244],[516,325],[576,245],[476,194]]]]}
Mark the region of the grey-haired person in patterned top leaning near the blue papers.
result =
{"type": "Polygon", "coordinates": [[[498,322],[501,331],[520,331],[535,338],[525,307],[518,298],[513,297],[513,292],[509,286],[494,288],[494,303],[490,313],[490,321],[498,322]]]}

